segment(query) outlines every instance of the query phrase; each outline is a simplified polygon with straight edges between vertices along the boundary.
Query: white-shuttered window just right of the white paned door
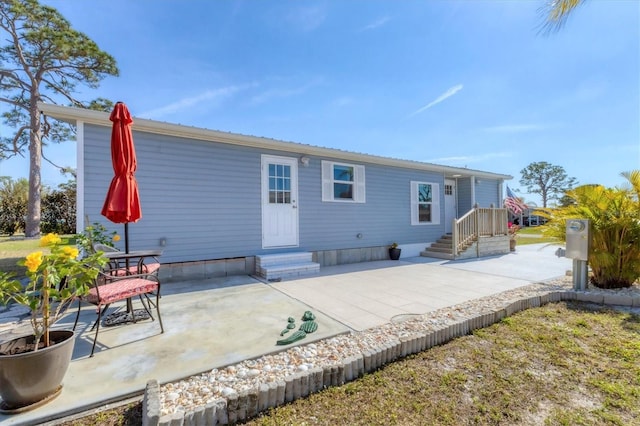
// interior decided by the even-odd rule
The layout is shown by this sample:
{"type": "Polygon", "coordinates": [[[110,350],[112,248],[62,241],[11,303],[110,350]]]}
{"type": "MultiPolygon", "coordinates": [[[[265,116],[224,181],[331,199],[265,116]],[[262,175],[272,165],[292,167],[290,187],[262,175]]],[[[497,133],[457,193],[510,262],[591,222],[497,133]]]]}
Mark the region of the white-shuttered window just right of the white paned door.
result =
{"type": "Polygon", "coordinates": [[[364,166],[323,161],[322,201],[364,203],[364,166]]]}

